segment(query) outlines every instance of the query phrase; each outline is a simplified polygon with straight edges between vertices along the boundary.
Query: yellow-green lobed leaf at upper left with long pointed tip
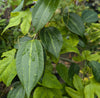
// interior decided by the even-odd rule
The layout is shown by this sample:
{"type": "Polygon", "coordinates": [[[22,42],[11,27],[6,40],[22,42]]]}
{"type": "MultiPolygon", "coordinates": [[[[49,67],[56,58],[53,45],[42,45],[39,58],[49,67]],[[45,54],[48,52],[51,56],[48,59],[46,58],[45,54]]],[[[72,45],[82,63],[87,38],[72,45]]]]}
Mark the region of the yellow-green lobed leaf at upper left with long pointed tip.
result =
{"type": "Polygon", "coordinates": [[[9,24],[6,26],[6,28],[3,30],[2,34],[10,27],[18,26],[21,23],[21,31],[24,35],[26,35],[30,29],[32,21],[32,13],[30,10],[21,11],[21,12],[12,12],[11,18],[9,21],[9,24]],[[21,20],[23,18],[23,21],[21,23],[21,20]]]}

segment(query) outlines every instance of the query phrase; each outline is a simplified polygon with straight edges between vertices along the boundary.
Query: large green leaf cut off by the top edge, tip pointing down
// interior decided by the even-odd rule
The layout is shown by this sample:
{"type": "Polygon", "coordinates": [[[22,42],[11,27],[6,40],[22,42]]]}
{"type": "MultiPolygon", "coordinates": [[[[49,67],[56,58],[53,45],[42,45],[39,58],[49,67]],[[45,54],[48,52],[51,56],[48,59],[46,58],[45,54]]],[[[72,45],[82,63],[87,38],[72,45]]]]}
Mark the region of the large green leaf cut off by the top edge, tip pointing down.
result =
{"type": "Polygon", "coordinates": [[[53,16],[60,0],[38,0],[32,10],[32,24],[38,32],[53,16]]]}

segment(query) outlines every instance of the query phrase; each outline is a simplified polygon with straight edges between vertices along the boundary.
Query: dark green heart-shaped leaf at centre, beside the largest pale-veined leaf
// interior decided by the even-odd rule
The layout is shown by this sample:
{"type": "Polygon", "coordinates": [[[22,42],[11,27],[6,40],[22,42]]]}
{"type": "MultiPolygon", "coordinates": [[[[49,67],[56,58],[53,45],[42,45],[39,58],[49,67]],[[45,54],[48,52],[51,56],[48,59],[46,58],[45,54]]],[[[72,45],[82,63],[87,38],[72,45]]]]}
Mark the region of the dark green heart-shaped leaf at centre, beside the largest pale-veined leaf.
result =
{"type": "Polygon", "coordinates": [[[40,39],[44,48],[58,58],[63,44],[61,33],[55,27],[44,28],[40,32],[40,39]]]}

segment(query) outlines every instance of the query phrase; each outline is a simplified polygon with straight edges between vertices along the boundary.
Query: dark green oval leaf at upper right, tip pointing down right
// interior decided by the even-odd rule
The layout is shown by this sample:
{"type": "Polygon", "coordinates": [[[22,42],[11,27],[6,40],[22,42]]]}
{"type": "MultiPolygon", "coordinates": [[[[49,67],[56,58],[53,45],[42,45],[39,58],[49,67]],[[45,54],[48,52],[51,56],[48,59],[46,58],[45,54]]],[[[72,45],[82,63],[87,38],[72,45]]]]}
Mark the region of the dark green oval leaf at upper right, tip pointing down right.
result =
{"type": "Polygon", "coordinates": [[[83,37],[85,27],[81,17],[75,13],[65,13],[63,16],[66,27],[73,33],[83,37]]]}

